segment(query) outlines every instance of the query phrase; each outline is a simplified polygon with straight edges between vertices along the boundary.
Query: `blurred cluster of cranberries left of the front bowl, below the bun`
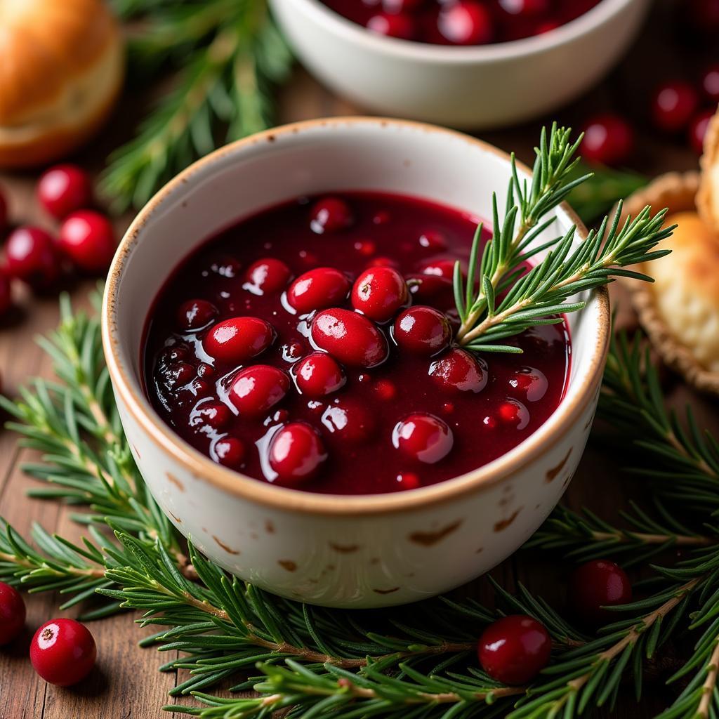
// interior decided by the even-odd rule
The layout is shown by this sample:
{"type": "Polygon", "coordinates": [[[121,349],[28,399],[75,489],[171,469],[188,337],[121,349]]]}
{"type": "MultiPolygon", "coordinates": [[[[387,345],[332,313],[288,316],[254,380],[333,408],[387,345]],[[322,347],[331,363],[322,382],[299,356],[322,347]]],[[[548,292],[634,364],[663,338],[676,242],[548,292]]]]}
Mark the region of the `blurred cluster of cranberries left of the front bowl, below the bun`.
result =
{"type": "MultiPolygon", "coordinates": [[[[37,200],[60,221],[53,237],[45,229],[21,224],[6,237],[0,266],[0,315],[12,306],[12,280],[37,291],[52,290],[70,267],[97,275],[109,267],[115,238],[109,219],[92,205],[88,175],[75,165],[57,165],[37,183],[37,200]]],[[[0,232],[9,227],[6,198],[0,193],[0,232]]]]}

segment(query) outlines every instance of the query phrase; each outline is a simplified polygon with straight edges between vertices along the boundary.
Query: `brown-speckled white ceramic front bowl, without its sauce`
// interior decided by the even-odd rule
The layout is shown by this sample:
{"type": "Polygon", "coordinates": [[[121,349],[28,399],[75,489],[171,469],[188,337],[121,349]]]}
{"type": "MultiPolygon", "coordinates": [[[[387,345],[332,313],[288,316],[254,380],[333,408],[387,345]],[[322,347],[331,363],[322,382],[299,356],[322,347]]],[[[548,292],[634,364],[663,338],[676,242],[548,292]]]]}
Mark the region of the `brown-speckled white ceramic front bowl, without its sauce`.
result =
{"type": "MultiPolygon", "coordinates": [[[[339,189],[406,193],[486,217],[493,191],[503,206],[509,173],[503,152],[449,130],[314,120],[217,150],[139,213],[106,285],[104,349],[139,469],[175,526],[207,556],[280,595],[376,607],[436,595],[487,572],[544,521],[592,424],[609,334],[605,291],[570,316],[567,392],[544,426],[479,470],[404,493],[319,495],[227,470],[165,425],[141,383],[152,301],[176,263],[217,230],[275,203],[339,189]]],[[[562,206],[548,232],[564,234],[576,221],[562,206]]]]}

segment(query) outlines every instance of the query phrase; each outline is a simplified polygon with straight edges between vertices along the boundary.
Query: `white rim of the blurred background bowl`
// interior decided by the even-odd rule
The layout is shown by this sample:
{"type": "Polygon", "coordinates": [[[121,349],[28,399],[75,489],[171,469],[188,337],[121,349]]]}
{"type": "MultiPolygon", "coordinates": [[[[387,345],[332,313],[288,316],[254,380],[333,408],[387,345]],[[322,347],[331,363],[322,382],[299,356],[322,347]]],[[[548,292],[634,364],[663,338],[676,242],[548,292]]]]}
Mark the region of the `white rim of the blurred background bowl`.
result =
{"type": "MultiPolygon", "coordinates": [[[[277,0],[275,0],[277,1],[277,0]]],[[[303,6],[318,24],[324,24],[329,32],[339,35],[342,40],[365,45],[368,50],[384,52],[395,58],[421,60],[439,64],[473,64],[497,60],[526,59],[546,50],[573,42],[596,27],[609,22],[633,3],[643,0],[600,0],[594,7],[570,20],[564,25],[544,32],[541,35],[523,37],[520,40],[495,42],[487,45],[448,46],[433,45],[429,42],[402,40],[398,37],[385,37],[361,27],[352,20],[335,12],[321,0],[290,0],[303,6]]]]}

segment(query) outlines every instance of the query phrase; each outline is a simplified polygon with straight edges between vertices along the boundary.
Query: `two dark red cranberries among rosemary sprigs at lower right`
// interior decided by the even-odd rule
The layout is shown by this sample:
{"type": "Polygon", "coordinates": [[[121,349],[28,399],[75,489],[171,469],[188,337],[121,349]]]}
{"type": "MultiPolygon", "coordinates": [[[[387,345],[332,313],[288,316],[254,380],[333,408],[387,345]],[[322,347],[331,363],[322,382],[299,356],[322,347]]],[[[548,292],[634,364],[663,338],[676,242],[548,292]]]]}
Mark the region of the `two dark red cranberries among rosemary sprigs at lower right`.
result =
{"type": "MultiPolygon", "coordinates": [[[[569,584],[569,603],[588,629],[613,622],[608,607],[631,601],[631,582],[618,564],[595,559],[578,567],[569,584]]],[[[480,637],[477,651],[482,669],[503,684],[526,684],[549,663],[551,638],[546,627],[523,614],[503,617],[480,637]]]]}

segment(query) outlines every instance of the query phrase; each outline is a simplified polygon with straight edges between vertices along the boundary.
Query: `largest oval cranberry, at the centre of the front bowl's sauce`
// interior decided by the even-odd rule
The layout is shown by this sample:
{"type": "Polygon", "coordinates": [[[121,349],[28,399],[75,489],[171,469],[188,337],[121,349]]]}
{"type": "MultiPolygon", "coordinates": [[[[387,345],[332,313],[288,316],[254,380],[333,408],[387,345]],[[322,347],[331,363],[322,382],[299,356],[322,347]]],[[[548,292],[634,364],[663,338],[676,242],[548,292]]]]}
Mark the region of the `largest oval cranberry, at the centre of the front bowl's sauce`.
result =
{"type": "Polygon", "coordinates": [[[388,354],[385,336],[357,312],[323,310],[312,321],[312,342],[349,367],[375,367],[388,354]]]}

